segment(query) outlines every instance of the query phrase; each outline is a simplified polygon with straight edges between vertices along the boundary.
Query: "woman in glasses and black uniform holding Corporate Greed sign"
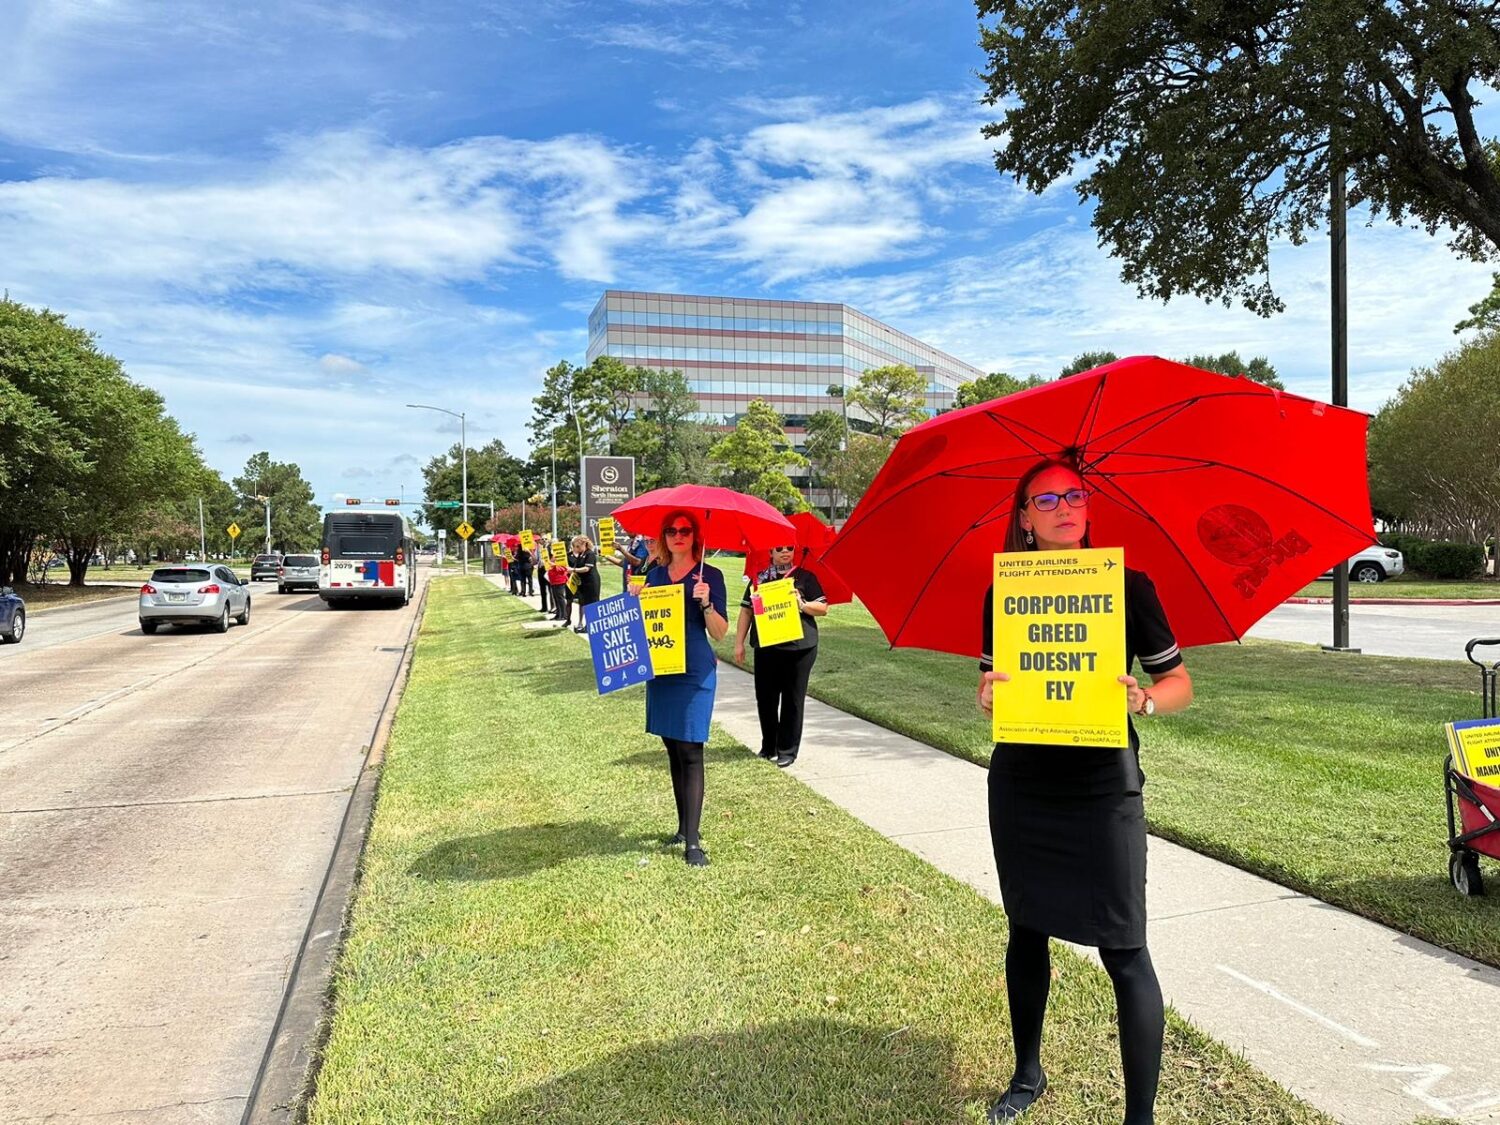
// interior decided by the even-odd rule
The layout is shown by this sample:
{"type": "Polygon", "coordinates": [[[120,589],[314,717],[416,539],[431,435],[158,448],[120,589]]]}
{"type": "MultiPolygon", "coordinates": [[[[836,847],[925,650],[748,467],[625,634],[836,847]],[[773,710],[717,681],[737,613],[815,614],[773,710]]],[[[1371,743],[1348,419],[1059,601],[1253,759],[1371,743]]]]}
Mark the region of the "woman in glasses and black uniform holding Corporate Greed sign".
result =
{"type": "MultiPolygon", "coordinates": [[[[1090,546],[1089,492],[1066,462],[1035,465],[1016,486],[1006,550],[1068,550],[1090,546]]],[[[1005,706],[1004,668],[994,669],[993,588],[984,598],[980,710],[1005,706]]],[[[1192,680],[1150,579],[1125,570],[1125,675],[1131,716],[1180,711],[1192,702],[1192,680]],[[1130,675],[1140,662],[1142,687],[1130,675]]],[[[1126,720],[1130,722],[1130,720],[1126,720]]],[[[1094,945],[1114,984],[1125,1125],[1155,1120],[1161,1076],[1162,1002],[1146,950],[1146,814],[1140,741],[1130,748],[996,742],[990,759],[990,840],[1010,918],[1005,990],[1011,1006],[1016,1074],[990,1107],[992,1122],[1011,1120],[1047,1089],[1041,1029],[1052,982],[1047,939],[1094,945]]]]}

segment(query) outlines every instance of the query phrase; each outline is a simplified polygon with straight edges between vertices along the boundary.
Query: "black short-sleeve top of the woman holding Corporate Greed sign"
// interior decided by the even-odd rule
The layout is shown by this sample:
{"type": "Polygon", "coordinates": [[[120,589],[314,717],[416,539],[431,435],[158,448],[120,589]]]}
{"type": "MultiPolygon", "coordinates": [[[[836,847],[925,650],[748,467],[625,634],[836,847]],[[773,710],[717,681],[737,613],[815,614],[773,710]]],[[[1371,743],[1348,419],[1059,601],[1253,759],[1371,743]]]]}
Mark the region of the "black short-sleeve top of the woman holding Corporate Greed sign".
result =
{"type": "MultiPolygon", "coordinates": [[[[984,592],[984,648],[980,654],[980,670],[993,669],[994,645],[994,588],[984,592]]],[[[1140,663],[1150,676],[1170,672],[1182,663],[1182,652],[1172,634],[1167,612],[1161,608],[1156,586],[1140,570],[1125,568],[1125,668],[1122,674],[1140,663]]],[[[1004,670],[1004,669],[1002,669],[1004,670]]],[[[994,686],[999,702],[1005,686],[994,686]]],[[[1130,750],[1114,747],[1054,747],[1000,742],[992,770],[1004,770],[1018,783],[1026,783],[1038,792],[1059,795],[1138,792],[1146,780],[1140,771],[1140,738],[1136,723],[1130,722],[1130,750]]]]}

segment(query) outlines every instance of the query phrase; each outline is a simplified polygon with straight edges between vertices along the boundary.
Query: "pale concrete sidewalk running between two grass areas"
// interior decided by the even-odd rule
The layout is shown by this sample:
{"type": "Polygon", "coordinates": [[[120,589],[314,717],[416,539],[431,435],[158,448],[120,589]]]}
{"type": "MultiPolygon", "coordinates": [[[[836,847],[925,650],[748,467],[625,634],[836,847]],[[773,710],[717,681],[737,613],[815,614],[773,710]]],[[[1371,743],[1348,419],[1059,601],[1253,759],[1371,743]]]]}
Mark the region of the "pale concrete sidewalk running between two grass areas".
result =
{"type": "MultiPolygon", "coordinates": [[[[728,663],[714,722],[760,744],[753,680],[728,663]]],[[[808,699],[788,772],[999,902],[982,766],[808,699]]],[[[1149,848],[1150,951],[1178,1012],[1348,1125],[1500,1122],[1500,970],[1166,840],[1149,848]]]]}

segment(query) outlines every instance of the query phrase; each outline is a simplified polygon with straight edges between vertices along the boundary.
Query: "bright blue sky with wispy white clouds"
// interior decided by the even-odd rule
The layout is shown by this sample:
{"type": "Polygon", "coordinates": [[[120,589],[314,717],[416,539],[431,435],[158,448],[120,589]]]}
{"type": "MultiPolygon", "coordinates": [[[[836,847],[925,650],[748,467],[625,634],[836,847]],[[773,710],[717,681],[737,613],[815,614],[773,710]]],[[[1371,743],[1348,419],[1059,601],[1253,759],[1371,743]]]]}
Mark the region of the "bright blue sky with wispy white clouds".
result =
{"type": "MultiPolygon", "coordinates": [[[[1328,250],[1287,314],[1142,302],[1060,186],[990,165],[969,3],[9,0],[0,285],[68,312],[232,476],[408,495],[456,440],[525,453],[606,286],[848,302],[987,370],[1266,354],[1328,396],[1328,250]]],[[[1350,232],[1352,404],[1488,270],[1350,232]]]]}

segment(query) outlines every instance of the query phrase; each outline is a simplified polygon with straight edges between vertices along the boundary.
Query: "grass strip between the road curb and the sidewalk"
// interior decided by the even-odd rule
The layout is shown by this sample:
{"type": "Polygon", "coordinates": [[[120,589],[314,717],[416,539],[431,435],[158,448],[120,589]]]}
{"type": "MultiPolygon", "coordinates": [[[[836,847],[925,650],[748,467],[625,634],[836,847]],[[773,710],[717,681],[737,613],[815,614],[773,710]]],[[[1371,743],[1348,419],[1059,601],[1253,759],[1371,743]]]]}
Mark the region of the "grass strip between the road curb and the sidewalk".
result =
{"type": "MultiPolygon", "coordinates": [[[[434,585],[310,1120],[978,1122],[1005,920],[714,732],[687,867],[644,696],[478,579],[434,585]]],[[[1113,996],[1066,951],[1030,1125],[1119,1120],[1113,996]]],[[[1160,1122],[1329,1119],[1172,1017],[1160,1122]]]]}

